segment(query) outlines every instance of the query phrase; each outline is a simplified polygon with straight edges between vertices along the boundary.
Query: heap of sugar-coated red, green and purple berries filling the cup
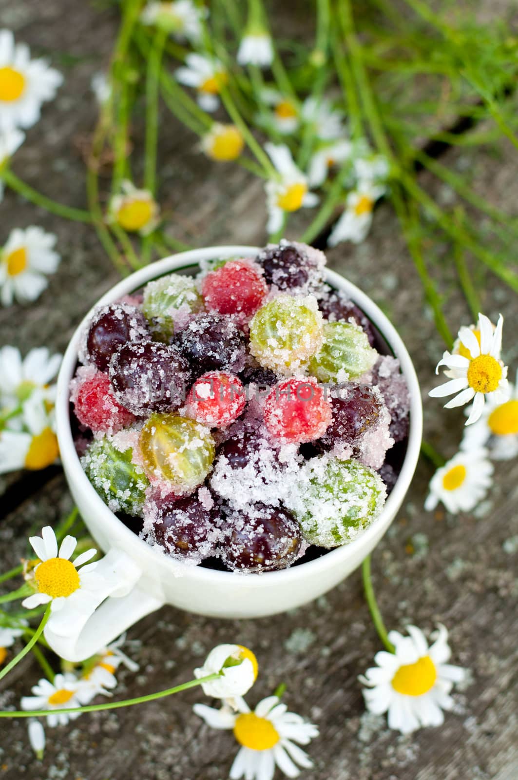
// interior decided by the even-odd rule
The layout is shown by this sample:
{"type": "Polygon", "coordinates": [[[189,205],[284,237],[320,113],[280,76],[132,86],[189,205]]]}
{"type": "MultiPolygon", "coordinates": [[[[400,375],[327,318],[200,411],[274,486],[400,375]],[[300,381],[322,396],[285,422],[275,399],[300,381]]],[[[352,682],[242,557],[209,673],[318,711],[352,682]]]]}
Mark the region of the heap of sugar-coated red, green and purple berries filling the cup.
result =
{"type": "Polygon", "coordinates": [[[396,483],[399,361],[324,268],[282,241],[90,318],[70,388],[83,468],[176,561],[284,569],[357,537],[396,483]]]}

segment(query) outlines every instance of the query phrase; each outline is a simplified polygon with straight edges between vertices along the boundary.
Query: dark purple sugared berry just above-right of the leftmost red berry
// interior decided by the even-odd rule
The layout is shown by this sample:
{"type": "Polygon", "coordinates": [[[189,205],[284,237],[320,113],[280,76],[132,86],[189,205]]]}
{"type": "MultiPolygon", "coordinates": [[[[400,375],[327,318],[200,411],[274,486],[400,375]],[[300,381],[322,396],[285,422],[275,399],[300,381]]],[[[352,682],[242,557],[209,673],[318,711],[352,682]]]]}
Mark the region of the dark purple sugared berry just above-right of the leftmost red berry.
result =
{"type": "Polygon", "coordinates": [[[178,349],[149,341],[120,347],[109,377],[115,398],[137,415],[177,409],[190,385],[189,363],[178,349]]]}

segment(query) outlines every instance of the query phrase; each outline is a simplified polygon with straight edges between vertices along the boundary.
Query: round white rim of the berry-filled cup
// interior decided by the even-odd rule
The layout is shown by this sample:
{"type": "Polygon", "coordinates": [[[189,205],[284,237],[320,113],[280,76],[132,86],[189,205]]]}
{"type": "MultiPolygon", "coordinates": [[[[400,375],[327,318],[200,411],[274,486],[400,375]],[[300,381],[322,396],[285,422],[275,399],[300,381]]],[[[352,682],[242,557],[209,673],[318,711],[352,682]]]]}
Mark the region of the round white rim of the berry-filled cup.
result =
{"type": "MultiPolygon", "coordinates": [[[[385,534],[386,530],[389,528],[410,487],[420,454],[423,429],[420,386],[412,360],[403,343],[403,339],[401,339],[388,317],[383,314],[377,304],[374,303],[366,293],[363,293],[356,285],[353,285],[352,282],[349,282],[342,275],[339,275],[326,267],[325,281],[331,284],[335,289],[345,290],[351,300],[367,314],[367,317],[373,321],[376,328],[378,328],[378,331],[384,337],[394,355],[399,359],[401,371],[406,378],[410,391],[410,430],[406,454],[396,485],[387,498],[378,519],[374,520],[374,523],[353,541],[350,541],[348,544],[343,544],[341,547],[329,550],[325,555],[321,555],[319,558],[315,558],[312,561],[307,561],[305,563],[300,563],[298,566],[290,566],[287,569],[279,569],[273,572],[239,573],[206,569],[202,566],[190,566],[169,558],[161,551],[152,548],[151,545],[147,544],[143,539],[140,539],[140,537],[130,530],[130,528],[126,527],[124,523],[115,516],[115,513],[109,509],[108,505],[105,504],[101,496],[95,491],[90,480],[88,480],[87,474],[81,466],[80,458],[76,453],[73,441],[69,417],[69,382],[73,378],[76,369],[78,349],[81,335],[83,334],[83,328],[87,324],[87,321],[90,320],[94,309],[107,303],[113,303],[115,300],[122,298],[122,296],[137,291],[146,282],[151,281],[151,279],[158,278],[167,273],[186,270],[193,265],[198,265],[200,261],[212,258],[225,259],[226,257],[257,257],[257,254],[260,251],[261,247],[257,246],[209,246],[204,249],[189,250],[169,255],[169,257],[164,257],[160,261],[156,261],[141,268],[139,271],[135,271],[101,296],[97,303],[95,303],[83,317],[69,341],[59,369],[55,402],[56,431],[59,441],[59,451],[67,481],[80,486],[83,495],[87,495],[90,503],[94,505],[95,512],[103,526],[107,528],[112,527],[111,536],[114,534],[119,537],[122,536],[127,544],[133,545],[135,549],[140,548],[142,558],[145,558],[146,555],[151,555],[156,558],[157,564],[160,563],[161,566],[168,566],[169,564],[171,566],[172,574],[176,576],[179,576],[179,567],[185,569],[185,575],[189,575],[191,578],[200,581],[200,583],[236,583],[237,575],[243,583],[247,584],[247,587],[252,585],[254,587],[264,587],[274,584],[275,581],[279,582],[279,584],[282,582],[286,585],[289,584],[290,580],[293,583],[294,581],[303,579],[307,576],[318,576],[318,574],[322,573],[325,569],[339,566],[340,563],[345,563],[349,558],[355,558],[357,550],[361,550],[364,546],[368,546],[371,539],[379,534],[380,527],[384,527],[382,534],[385,534]],[[230,580],[231,577],[233,580],[230,580]]],[[[72,484],[70,484],[70,487],[72,488],[72,484]]]]}

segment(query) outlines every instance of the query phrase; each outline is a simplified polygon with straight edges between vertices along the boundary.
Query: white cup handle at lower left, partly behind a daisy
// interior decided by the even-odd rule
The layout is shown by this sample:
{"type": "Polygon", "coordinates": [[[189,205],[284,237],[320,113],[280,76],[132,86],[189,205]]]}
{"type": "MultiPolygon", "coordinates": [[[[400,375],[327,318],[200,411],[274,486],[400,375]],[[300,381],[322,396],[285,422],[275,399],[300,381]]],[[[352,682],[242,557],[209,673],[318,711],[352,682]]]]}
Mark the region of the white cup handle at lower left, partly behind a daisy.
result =
{"type": "Polygon", "coordinates": [[[65,661],[85,661],[164,604],[163,598],[147,594],[139,587],[141,569],[120,550],[108,551],[95,572],[108,583],[95,611],[76,622],[73,634],[66,629],[63,635],[57,633],[52,629],[52,621],[45,626],[44,637],[49,647],[65,661]]]}

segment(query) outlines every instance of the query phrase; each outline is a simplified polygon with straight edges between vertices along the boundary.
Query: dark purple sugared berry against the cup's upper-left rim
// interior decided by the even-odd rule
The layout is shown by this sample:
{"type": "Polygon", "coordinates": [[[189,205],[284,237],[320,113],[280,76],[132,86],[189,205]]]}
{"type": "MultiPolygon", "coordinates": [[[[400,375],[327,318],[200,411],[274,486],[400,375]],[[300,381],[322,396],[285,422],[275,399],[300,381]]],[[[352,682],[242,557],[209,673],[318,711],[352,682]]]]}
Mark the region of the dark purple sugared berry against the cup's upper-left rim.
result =
{"type": "Polygon", "coordinates": [[[126,342],[149,339],[144,315],[129,303],[110,303],[95,312],[90,321],[83,362],[94,363],[99,371],[108,371],[116,349],[126,342]]]}

